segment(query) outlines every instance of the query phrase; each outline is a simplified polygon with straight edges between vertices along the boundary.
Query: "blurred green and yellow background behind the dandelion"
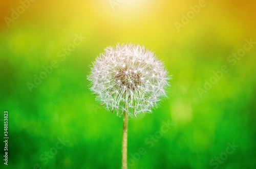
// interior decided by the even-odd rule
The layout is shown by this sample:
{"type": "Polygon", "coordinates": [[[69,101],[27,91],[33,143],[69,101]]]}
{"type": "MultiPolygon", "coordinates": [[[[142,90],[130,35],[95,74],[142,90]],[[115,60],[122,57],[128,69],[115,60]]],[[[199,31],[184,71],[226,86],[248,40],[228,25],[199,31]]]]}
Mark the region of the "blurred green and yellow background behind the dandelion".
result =
{"type": "Polygon", "coordinates": [[[95,102],[87,75],[106,46],[127,42],[154,51],[173,75],[169,98],[153,114],[129,120],[129,168],[256,168],[256,45],[235,65],[227,61],[245,39],[256,41],[256,2],[205,3],[178,31],[174,23],[199,1],[36,0],[8,26],[21,3],[2,0],[0,168],[120,168],[122,118],[95,102]],[[62,61],[58,52],[76,34],[86,39],[62,61]],[[27,83],[52,61],[58,66],[30,92],[27,83]],[[223,65],[229,71],[200,96],[223,65]],[[160,133],[168,121],[173,126],[160,133]],[[55,152],[58,137],[69,142],[55,152]],[[228,143],[239,147],[226,157],[228,143]],[[146,153],[137,158],[141,147],[146,153]],[[49,151],[54,155],[42,160],[49,151]]]}

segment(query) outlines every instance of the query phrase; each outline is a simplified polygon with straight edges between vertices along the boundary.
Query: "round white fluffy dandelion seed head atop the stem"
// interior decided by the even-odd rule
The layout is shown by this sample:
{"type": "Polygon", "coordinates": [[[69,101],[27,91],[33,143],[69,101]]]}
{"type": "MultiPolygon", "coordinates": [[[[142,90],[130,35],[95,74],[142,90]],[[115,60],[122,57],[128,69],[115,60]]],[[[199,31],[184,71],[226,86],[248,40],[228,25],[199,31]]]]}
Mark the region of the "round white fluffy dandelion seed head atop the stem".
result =
{"type": "Polygon", "coordinates": [[[117,44],[100,54],[88,79],[96,100],[107,109],[136,116],[151,112],[166,97],[169,76],[153,52],[139,45],[117,44]]]}

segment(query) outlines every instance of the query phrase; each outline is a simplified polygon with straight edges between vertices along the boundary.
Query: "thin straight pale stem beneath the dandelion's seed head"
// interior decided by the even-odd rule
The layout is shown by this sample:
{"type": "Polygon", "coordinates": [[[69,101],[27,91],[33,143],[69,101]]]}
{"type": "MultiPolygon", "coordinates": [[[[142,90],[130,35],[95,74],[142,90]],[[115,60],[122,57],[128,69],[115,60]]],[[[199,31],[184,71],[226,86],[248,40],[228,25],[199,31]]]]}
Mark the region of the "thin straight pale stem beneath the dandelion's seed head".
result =
{"type": "Polygon", "coordinates": [[[123,112],[123,138],[122,138],[122,169],[127,169],[127,131],[128,131],[128,109],[123,112]]]}

